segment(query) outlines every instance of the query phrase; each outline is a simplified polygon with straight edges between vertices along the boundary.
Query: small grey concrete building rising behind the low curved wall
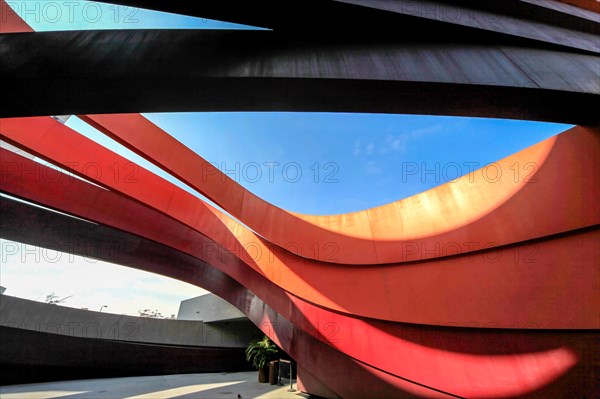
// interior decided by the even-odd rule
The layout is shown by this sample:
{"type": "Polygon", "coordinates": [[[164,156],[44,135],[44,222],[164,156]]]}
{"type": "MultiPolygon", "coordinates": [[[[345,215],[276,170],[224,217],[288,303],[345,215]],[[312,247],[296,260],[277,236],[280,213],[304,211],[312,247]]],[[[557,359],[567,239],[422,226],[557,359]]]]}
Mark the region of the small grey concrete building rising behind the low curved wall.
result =
{"type": "Polygon", "coordinates": [[[202,320],[206,323],[226,320],[248,320],[246,315],[224,299],[206,294],[181,301],[179,320],[202,320]]]}

